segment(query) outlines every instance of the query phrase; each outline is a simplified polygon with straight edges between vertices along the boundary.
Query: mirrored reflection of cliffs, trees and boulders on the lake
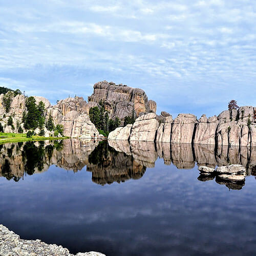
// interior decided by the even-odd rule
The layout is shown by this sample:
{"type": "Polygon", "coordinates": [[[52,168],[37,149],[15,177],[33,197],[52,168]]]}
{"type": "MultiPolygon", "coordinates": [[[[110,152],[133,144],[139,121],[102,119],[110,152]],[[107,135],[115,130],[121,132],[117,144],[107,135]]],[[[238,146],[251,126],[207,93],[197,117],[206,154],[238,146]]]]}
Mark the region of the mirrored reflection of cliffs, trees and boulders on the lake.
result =
{"type": "MultiPolygon", "coordinates": [[[[173,163],[178,169],[198,166],[215,168],[242,164],[247,175],[256,175],[256,148],[213,145],[169,144],[133,141],[81,141],[76,139],[7,143],[0,146],[1,175],[18,181],[24,175],[45,172],[51,165],[77,172],[84,166],[92,173],[92,181],[104,185],[139,179],[146,168],[153,168],[157,158],[164,164],[173,163]]],[[[200,175],[198,180],[213,180],[214,176],[200,175]]],[[[228,188],[241,189],[244,183],[216,178],[228,188]]]]}

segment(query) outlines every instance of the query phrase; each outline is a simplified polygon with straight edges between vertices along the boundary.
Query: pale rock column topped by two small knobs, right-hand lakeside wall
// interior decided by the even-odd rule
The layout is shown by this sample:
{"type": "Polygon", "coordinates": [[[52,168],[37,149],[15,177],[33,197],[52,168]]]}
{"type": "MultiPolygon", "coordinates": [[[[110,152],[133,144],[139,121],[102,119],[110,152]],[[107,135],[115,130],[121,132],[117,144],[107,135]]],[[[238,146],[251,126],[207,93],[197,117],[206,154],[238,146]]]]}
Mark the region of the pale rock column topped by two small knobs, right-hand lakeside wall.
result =
{"type": "Polygon", "coordinates": [[[205,115],[198,120],[195,133],[195,144],[215,144],[215,134],[219,121],[216,116],[207,119],[205,115]]]}

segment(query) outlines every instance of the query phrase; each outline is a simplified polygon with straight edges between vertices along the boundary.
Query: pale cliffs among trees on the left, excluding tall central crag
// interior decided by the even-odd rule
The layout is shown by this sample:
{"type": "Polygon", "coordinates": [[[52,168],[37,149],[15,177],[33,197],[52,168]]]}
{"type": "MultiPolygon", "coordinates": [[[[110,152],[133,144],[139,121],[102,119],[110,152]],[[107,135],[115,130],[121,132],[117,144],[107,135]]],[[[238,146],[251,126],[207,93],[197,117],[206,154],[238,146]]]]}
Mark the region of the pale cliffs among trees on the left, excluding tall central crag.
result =
{"type": "MultiPolygon", "coordinates": [[[[10,94],[13,94],[10,92],[10,94]]],[[[52,106],[48,99],[40,96],[33,96],[35,102],[38,104],[42,101],[45,104],[45,119],[46,121],[51,116],[53,118],[54,125],[62,124],[64,128],[63,135],[77,138],[91,138],[99,137],[99,133],[95,125],[90,121],[89,110],[93,106],[98,106],[96,102],[89,102],[83,100],[82,97],[69,97],[67,99],[60,100],[56,105],[52,106]]],[[[6,133],[18,133],[18,125],[24,129],[24,123],[22,120],[23,113],[27,111],[26,108],[26,96],[18,94],[16,96],[10,95],[11,103],[10,110],[7,112],[4,106],[4,94],[0,95],[0,123],[3,126],[6,133]],[[8,118],[12,117],[13,126],[8,125],[8,118]]],[[[46,128],[45,136],[53,136],[53,131],[48,131],[46,128]]],[[[38,134],[39,129],[35,132],[38,134]]]]}

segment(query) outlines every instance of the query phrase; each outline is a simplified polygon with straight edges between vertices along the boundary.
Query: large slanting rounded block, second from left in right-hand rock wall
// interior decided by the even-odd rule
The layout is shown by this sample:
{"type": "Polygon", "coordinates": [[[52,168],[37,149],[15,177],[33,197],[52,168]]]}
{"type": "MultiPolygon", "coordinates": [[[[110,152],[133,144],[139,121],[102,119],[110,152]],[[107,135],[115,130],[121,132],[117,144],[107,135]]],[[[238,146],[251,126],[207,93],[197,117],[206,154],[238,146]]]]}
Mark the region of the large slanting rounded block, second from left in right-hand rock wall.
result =
{"type": "Polygon", "coordinates": [[[138,117],[133,124],[130,140],[155,141],[159,122],[156,114],[149,113],[138,117]]]}

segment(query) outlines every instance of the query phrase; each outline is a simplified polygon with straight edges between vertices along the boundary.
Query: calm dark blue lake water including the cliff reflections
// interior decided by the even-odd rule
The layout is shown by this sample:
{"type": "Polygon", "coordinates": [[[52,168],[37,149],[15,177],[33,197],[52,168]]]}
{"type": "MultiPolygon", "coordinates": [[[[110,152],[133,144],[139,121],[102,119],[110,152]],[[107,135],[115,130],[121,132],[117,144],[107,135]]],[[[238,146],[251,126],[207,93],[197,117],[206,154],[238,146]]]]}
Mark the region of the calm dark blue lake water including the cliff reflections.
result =
{"type": "Polygon", "coordinates": [[[1,146],[0,223],[72,253],[252,255],[256,150],[188,144],[28,142],[1,146]],[[240,163],[245,183],[198,165],[240,163]]]}

